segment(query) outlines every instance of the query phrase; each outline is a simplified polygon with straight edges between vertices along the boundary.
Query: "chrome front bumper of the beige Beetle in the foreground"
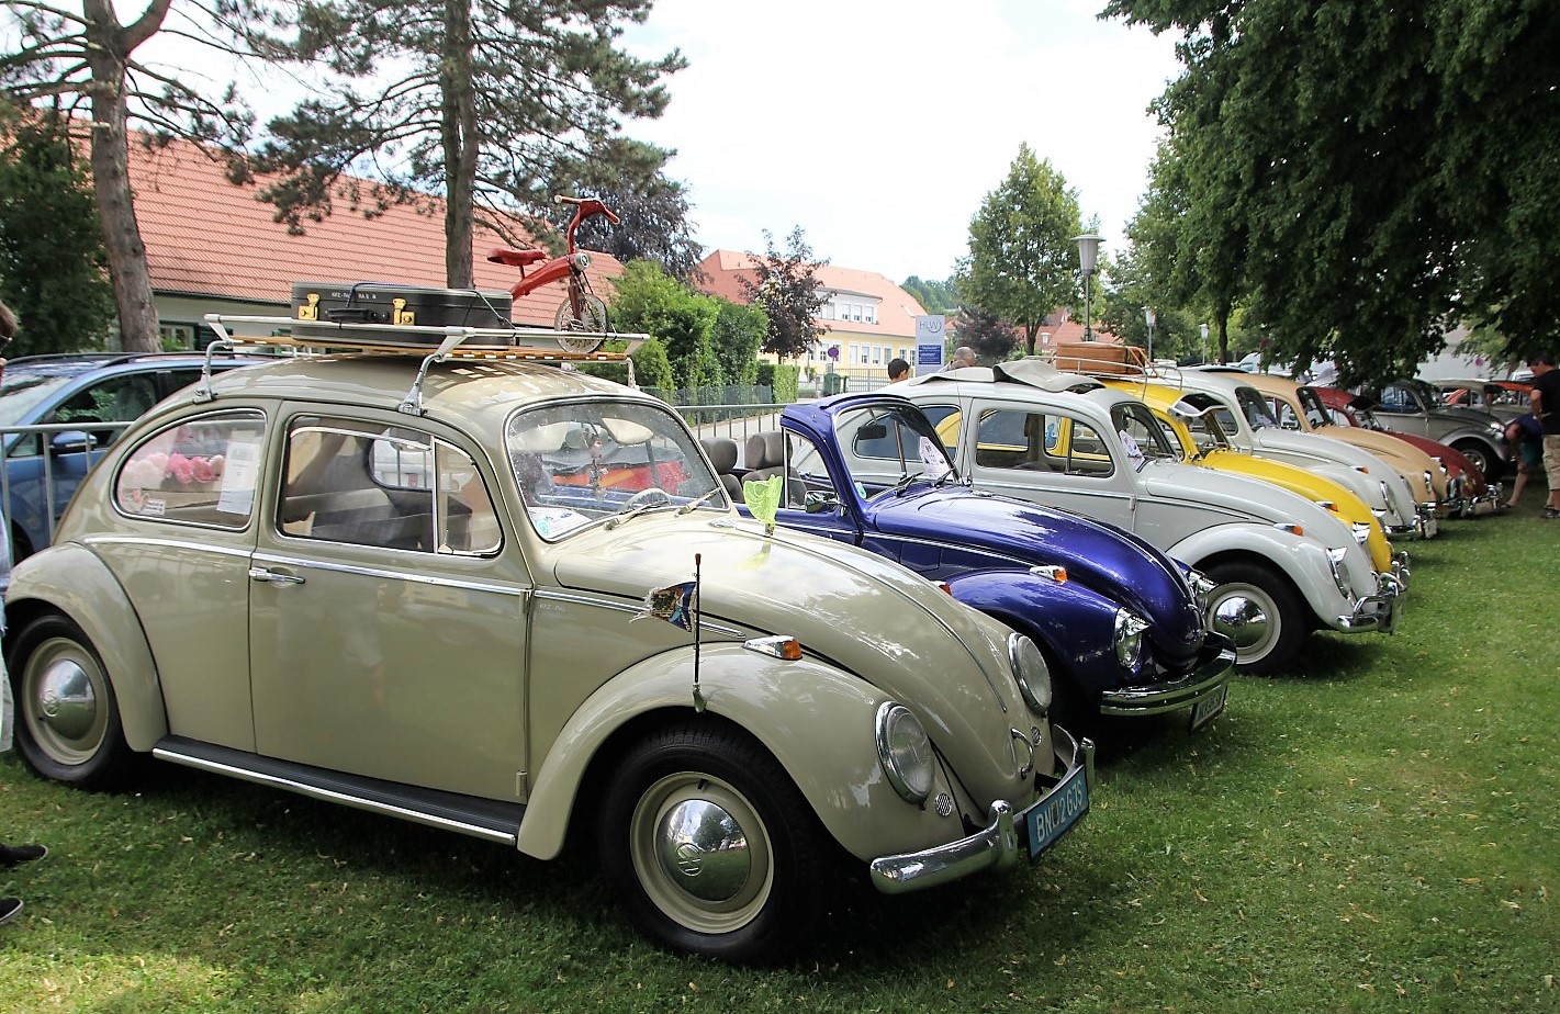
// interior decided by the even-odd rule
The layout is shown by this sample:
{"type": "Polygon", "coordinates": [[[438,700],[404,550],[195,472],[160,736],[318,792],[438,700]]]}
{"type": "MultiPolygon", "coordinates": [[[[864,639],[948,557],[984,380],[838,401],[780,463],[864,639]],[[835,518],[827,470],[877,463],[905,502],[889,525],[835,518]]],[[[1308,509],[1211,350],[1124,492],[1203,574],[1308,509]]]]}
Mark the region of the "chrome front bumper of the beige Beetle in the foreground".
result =
{"type": "MultiPolygon", "coordinates": [[[[1062,764],[1062,771],[1051,778],[1053,782],[1061,785],[1073,771],[1083,768],[1086,783],[1090,788],[1094,786],[1092,739],[1087,736],[1073,739],[1072,733],[1061,725],[1051,725],[1051,750],[1062,764]]],[[[1055,786],[1042,792],[1030,805],[1039,805],[1051,791],[1055,791],[1055,786]]],[[[922,852],[886,855],[872,860],[869,864],[872,886],[883,894],[908,894],[909,891],[963,880],[984,869],[1011,866],[1025,852],[1020,813],[1008,800],[998,799],[986,810],[989,821],[986,827],[967,838],[950,841],[934,849],[924,849],[922,852]]]]}

